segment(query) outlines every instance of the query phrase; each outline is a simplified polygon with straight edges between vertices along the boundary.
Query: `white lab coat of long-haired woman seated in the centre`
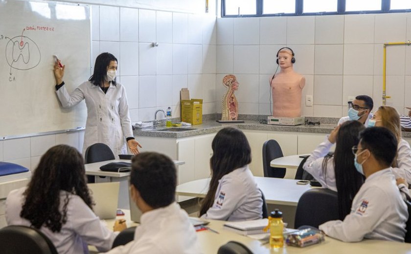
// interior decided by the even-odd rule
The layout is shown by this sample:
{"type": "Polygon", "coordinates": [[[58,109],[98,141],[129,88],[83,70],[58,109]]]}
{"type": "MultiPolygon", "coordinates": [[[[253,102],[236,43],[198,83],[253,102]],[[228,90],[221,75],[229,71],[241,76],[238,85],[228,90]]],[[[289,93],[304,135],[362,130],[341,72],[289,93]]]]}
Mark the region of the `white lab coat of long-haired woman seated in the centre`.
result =
{"type": "Polygon", "coordinates": [[[213,205],[201,217],[215,220],[261,219],[263,199],[248,165],[224,175],[213,205]]]}

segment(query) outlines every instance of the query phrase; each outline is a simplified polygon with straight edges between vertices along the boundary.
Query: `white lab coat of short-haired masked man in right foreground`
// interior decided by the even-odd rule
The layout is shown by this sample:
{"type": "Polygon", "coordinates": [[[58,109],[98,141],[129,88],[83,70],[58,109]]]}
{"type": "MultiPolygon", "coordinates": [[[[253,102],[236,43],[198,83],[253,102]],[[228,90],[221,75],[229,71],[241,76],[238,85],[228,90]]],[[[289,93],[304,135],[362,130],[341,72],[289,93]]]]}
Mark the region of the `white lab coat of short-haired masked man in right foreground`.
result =
{"type": "Polygon", "coordinates": [[[363,238],[404,242],[408,216],[394,174],[387,168],[365,179],[344,221],[328,221],[320,230],[344,242],[363,238]]]}

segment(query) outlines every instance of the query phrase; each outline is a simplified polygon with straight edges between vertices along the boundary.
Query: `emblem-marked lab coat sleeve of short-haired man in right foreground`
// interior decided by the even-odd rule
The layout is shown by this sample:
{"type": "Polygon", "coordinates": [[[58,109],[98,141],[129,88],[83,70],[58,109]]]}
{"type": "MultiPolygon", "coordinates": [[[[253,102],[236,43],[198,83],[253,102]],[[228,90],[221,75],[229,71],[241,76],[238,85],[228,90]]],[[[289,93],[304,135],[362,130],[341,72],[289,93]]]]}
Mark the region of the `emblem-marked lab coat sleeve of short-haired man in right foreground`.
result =
{"type": "Polygon", "coordinates": [[[320,225],[320,230],[328,236],[344,242],[359,242],[371,233],[384,219],[384,213],[391,209],[388,195],[378,189],[366,190],[359,203],[351,208],[344,221],[332,220],[320,225]]]}

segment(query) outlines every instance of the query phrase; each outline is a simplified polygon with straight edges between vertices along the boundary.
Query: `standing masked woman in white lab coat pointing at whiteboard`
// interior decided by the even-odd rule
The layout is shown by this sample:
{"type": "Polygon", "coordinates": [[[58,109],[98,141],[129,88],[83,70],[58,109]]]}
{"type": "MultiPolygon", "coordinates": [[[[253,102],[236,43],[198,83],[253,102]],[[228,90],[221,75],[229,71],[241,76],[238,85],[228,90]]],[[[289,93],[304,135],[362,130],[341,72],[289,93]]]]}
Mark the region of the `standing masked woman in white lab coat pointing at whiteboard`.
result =
{"type": "Polygon", "coordinates": [[[103,143],[118,158],[118,154],[127,153],[125,141],[132,153],[139,153],[138,147],[141,148],[141,145],[133,136],[126,89],[115,82],[117,59],[114,55],[101,53],[95,60],[89,81],[79,85],[71,94],[68,94],[63,82],[65,67],[60,60],[54,66],[56,94],[63,107],[72,107],[86,100],[83,154],[89,146],[103,143]]]}

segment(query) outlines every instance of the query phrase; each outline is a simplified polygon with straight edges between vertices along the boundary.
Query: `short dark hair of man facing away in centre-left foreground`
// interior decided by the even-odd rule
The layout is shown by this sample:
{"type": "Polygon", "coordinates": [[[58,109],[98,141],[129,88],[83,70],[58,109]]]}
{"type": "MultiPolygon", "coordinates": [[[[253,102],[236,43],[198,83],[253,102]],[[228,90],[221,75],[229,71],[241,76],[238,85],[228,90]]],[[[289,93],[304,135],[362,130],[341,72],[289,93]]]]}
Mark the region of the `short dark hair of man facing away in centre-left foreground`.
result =
{"type": "Polygon", "coordinates": [[[166,207],[176,199],[177,172],[174,162],[157,152],[142,152],[132,159],[130,185],[152,208],[166,207]]]}

